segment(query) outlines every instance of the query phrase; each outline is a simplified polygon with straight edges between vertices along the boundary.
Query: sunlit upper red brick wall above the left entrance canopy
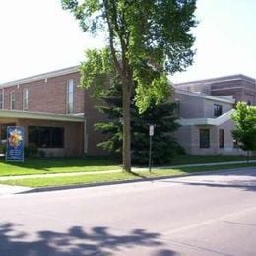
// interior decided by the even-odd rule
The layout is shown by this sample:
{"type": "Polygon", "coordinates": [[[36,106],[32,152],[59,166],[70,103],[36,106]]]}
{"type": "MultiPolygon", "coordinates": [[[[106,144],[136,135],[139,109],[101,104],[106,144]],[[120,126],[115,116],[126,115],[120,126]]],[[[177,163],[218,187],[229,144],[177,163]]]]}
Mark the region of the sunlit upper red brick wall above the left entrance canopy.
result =
{"type": "Polygon", "coordinates": [[[23,110],[23,89],[29,89],[29,109],[32,112],[66,113],[67,80],[74,79],[74,113],[83,112],[84,90],[76,87],[79,73],[48,78],[4,88],[4,109],[10,109],[10,92],[15,92],[15,109],[23,110]]]}

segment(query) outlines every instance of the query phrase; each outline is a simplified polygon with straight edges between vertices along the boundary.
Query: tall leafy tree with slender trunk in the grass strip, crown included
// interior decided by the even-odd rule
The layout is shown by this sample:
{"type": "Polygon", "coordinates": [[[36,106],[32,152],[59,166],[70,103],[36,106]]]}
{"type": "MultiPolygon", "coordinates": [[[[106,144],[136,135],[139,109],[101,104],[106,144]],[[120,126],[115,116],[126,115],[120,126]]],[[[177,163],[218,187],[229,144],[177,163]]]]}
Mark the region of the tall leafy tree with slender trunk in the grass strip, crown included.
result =
{"type": "Polygon", "coordinates": [[[62,7],[75,15],[85,32],[105,32],[108,38],[106,49],[87,53],[81,84],[107,84],[109,69],[120,77],[123,168],[131,171],[132,91],[136,87],[136,104],[143,112],[151,102],[165,98],[168,74],[191,65],[196,0],[62,0],[62,7]]]}

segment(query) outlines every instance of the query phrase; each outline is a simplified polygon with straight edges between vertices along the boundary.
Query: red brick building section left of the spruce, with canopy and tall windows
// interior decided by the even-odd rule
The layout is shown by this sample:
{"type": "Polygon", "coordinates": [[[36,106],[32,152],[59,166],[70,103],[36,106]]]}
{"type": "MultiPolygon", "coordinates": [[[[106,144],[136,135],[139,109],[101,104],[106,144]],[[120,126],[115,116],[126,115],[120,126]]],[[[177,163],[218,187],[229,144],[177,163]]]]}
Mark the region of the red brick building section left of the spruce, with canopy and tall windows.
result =
{"type": "Polygon", "coordinates": [[[71,67],[1,84],[1,141],[6,127],[17,125],[25,127],[25,144],[36,144],[46,156],[104,154],[93,127],[102,116],[78,82],[78,67],[71,67]]]}

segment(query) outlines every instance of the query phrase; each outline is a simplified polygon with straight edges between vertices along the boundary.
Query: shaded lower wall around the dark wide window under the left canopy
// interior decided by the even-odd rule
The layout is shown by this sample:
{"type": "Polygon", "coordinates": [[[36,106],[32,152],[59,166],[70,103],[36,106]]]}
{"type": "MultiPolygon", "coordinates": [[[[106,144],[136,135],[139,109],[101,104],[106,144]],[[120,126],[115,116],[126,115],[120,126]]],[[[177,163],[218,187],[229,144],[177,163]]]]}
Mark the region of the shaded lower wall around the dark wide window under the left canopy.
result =
{"type": "Polygon", "coordinates": [[[64,128],[64,148],[42,148],[42,150],[46,153],[46,156],[76,157],[81,156],[81,154],[83,153],[83,123],[19,119],[17,120],[17,125],[25,127],[25,144],[28,144],[28,126],[34,125],[64,128]]]}

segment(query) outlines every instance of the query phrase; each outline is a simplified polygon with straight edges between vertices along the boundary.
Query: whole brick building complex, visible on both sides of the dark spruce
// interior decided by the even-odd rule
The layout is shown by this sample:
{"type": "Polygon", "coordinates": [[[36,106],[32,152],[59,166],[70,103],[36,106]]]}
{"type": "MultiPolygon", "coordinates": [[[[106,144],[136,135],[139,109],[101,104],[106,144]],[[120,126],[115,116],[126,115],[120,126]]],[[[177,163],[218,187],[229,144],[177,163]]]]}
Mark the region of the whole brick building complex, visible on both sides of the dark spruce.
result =
{"type": "MultiPolygon", "coordinates": [[[[102,155],[102,134],[94,124],[104,119],[89,90],[77,87],[78,67],[0,85],[1,142],[7,126],[25,127],[25,143],[46,156],[102,155]]],[[[243,76],[174,85],[179,105],[177,141],[189,154],[243,154],[233,142],[231,114],[236,101],[256,105],[255,80],[243,76]]]]}

